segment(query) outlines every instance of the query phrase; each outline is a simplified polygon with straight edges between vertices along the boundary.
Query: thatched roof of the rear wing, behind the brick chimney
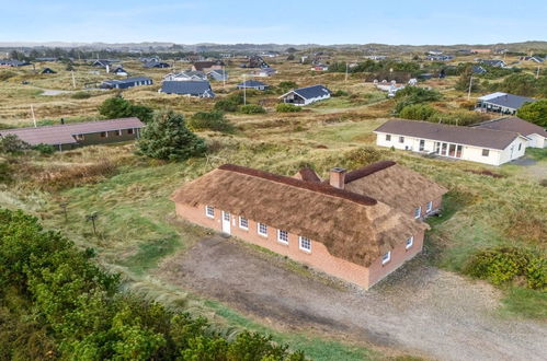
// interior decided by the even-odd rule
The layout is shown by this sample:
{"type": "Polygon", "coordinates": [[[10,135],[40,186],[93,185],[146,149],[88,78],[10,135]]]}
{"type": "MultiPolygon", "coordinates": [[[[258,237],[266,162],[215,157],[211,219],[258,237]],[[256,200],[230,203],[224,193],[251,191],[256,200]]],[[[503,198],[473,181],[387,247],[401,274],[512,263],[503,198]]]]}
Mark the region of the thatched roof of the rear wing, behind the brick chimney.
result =
{"type": "Polygon", "coordinates": [[[347,173],[345,189],[373,197],[407,214],[412,214],[418,206],[447,191],[435,182],[391,161],[347,173]]]}

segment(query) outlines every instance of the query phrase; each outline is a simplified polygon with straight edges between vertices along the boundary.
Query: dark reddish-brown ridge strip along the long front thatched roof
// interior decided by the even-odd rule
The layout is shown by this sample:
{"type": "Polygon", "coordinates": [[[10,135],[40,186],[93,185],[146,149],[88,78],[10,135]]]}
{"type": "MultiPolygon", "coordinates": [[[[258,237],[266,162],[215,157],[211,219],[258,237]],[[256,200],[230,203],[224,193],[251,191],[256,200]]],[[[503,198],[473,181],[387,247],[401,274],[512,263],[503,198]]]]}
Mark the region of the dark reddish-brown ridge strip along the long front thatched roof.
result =
{"type": "Polygon", "coordinates": [[[326,185],[322,183],[310,183],[310,182],[305,182],[300,180],[297,178],[284,176],[284,175],[278,175],[278,174],[273,174],[269,173],[265,171],[260,171],[260,170],[254,170],[254,168],[249,168],[246,166],[241,165],[235,165],[235,164],[224,164],[218,167],[218,170],[221,171],[230,171],[230,172],[236,172],[240,174],[246,174],[254,177],[260,177],[263,179],[276,182],[276,183],[282,183],[288,186],[297,187],[300,189],[306,189],[310,191],[316,191],[323,194],[326,196],[331,196],[335,198],[342,198],[345,200],[353,201],[355,203],[360,203],[363,206],[376,206],[378,201],[372,197],[367,196],[362,196],[358,194],[354,194],[344,189],[339,189],[334,188],[330,185],[326,185]]]}

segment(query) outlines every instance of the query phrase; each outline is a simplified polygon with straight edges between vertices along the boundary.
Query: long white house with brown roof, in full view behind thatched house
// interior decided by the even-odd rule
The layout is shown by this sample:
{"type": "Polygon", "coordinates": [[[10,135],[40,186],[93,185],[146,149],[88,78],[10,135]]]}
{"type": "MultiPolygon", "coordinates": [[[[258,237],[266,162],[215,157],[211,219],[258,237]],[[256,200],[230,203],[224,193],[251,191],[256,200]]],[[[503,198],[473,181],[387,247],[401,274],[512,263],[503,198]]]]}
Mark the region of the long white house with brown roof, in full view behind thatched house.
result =
{"type": "Polygon", "coordinates": [[[515,131],[457,127],[419,120],[388,120],[376,144],[451,159],[501,165],[524,155],[528,138],[515,131]]]}

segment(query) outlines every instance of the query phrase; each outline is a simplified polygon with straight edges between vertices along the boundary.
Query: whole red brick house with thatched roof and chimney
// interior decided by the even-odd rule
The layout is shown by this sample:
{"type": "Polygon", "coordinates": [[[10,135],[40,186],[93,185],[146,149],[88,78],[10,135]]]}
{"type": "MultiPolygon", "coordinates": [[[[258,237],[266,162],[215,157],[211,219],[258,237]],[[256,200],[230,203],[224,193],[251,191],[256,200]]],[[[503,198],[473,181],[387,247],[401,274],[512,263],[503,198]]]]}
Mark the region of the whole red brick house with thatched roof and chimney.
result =
{"type": "Polygon", "coordinates": [[[226,164],[182,186],[172,200],[193,223],[367,289],[422,249],[428,212],[414,217],[414,209],[431,203],[433,213],[446,189],[394,162],[330,174],[323,182],[309,168],[288,177],[226,164]],[[384,185],[386,176],[398,179],[384,185]],[[384,191],[415,199],[399,209],[402,200],[384,191]]]}

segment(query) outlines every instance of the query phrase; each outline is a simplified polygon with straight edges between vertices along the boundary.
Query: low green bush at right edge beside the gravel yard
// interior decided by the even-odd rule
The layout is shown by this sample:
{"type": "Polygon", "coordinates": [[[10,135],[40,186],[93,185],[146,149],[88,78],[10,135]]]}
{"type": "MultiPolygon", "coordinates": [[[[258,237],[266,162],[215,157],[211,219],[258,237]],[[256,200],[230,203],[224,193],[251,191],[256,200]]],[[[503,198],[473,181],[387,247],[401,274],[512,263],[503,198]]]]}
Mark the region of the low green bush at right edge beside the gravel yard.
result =
{"type": "Polygon", "coordinates": [[[547,286],[547,259],[517,247],[497,247],[477,253],[464,271],[492,284],[511,284],[523,278],[526,287],[542,290],[547,286]]]}

